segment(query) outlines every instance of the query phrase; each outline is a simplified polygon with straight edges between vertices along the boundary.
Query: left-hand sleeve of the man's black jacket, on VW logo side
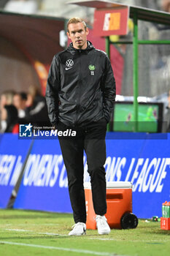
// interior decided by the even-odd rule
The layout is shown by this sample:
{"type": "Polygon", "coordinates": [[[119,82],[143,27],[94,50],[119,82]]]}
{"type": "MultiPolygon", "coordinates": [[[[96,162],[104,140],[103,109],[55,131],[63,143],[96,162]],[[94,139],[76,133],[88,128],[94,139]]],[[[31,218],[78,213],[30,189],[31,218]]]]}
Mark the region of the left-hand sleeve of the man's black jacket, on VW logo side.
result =
{"type": "Polygon", "coordinates": [[[58,91],[60,88],[60,72],[57,56],[53,57],[47,78],[46,102],[51,124],[58,124],[58,91]]]}

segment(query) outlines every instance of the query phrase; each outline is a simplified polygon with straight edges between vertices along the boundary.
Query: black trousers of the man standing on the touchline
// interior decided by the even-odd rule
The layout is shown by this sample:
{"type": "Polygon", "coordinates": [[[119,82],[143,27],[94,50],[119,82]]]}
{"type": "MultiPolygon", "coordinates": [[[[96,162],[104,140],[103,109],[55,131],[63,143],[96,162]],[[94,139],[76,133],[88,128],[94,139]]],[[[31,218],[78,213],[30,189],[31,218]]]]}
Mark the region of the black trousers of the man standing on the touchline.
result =
{"type": "Polygon", "coordinates": [[[102,118],[85,127],[66,127],[59,122],[58,130],[72,129],[77,132],[76,137],[58,137],[63,162],[69,183],[69,197],[72,204],[74,222],[86,222],[85,191],[83,187],[83,152],[87,156],[88,173],[93,197],[93,208],[96,214],[107,212],[106,178],[104,163],[106,161],[105,136],[107,121],[102,118]]]}

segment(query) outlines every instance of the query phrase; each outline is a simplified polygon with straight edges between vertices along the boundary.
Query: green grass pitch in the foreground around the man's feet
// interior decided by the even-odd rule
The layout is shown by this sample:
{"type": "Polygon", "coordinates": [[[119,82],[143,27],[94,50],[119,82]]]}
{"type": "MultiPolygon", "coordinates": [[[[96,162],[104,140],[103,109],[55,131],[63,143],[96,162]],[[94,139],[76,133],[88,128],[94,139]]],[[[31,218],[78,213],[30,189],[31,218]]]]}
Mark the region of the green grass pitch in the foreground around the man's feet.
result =
{"type": "Polygon", "coordinates": [[[169,255],[170,231],[160,222],[139,220],[134,230],[112,230],[100,236],[68,236],[74,225],[72,214],[0,210],[0,255],[169,255]],[[7,244],[11,243],[11,244],[7,244]]]}

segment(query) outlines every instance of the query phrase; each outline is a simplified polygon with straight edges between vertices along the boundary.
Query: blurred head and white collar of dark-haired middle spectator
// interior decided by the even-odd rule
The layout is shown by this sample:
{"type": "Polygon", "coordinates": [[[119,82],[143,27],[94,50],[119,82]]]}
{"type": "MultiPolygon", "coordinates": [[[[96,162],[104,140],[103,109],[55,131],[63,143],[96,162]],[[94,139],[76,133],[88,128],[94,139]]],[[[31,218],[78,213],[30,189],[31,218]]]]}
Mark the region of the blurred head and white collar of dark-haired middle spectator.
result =
{"type": "Polygon", "coordinates": [[[25,118],[26,117],[26,101],[27,101],[27,94],[25,92],[19,92],[14,95],[13,103],[15,108],[18,109],[18,117],[25,118]]]}

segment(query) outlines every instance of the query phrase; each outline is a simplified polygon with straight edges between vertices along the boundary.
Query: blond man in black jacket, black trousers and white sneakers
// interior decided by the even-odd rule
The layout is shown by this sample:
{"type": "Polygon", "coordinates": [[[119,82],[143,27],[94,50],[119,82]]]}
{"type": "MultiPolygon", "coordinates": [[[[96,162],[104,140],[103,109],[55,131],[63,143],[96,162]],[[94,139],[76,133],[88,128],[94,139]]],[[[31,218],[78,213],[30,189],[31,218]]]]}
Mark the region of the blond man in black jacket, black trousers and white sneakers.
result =
{"type": "Polygon", "coordinates": [[[115,102],[115,78],[107,54],[87,41],[88,28],[81,18],[67,24],[69,48],[54,56],[47,79],[46,100],[50,121],[58,130],[73,129],[75,138],[59,138],[69,181],[69,196],[74,215],[70,236],[86,230],[83,187],[83,151],[99,234],[110,232],[107,219],[105,135],[115,102]]]}

